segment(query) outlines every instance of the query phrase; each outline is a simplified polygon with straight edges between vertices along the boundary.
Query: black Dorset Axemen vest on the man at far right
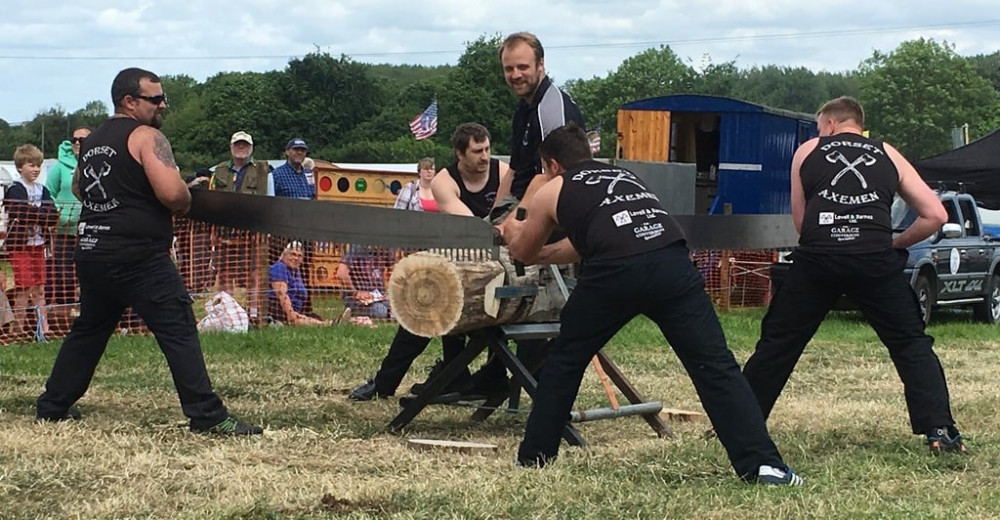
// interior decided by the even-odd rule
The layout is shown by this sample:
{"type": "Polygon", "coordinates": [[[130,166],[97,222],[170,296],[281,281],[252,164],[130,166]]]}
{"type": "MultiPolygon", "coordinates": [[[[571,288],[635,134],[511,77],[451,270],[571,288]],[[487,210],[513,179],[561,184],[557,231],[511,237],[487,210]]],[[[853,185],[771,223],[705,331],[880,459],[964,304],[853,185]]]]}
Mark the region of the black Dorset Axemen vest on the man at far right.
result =
{"type": "Polygon", "coordinates": [[[799,249],[871,253],[892,248],[899,172],[881,141],[854,133],[820,137],[802,162],[806,207],[799,249]]]}

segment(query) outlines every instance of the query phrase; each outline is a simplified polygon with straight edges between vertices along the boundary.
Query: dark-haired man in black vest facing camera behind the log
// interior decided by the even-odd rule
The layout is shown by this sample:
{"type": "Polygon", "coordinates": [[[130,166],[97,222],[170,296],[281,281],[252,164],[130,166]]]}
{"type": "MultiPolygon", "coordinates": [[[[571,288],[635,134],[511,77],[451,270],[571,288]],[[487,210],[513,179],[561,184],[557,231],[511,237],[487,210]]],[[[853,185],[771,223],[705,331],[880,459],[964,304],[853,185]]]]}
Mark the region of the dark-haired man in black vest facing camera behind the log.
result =
{"type": "MultiPolygon", "coordinates": [[[[507,163],[490,158],[490,133],[484,126],[476,123],[459,125],[452,134],[452,145],[455,148],[455,162],[442,168],[431,183],[438,210],[441,213],[483,218],[489,214],[496,201],[497,190],[502,180],[508,176],[507,163]]],[[[441,338],[444,359],[435,365],[434,371],[443,368],[462,352],[465,339],[465,335],[441,338]]],[[[430,338],[417,336],[399,327],[375,377],[352,390],[348,398],[370,401],[395,394],[406,371],[428,344],[430,338]]],[[[410,391],[420,393],[422,388],[423,384],[418,383],[410,391]]],[[[466,371],[456,378],[437,400],[469,399],[472,394],[486,396],[494,392],[506,392],[507,388],[506,368],[499,360],[491,359],[475,375],[466,371]]]]}

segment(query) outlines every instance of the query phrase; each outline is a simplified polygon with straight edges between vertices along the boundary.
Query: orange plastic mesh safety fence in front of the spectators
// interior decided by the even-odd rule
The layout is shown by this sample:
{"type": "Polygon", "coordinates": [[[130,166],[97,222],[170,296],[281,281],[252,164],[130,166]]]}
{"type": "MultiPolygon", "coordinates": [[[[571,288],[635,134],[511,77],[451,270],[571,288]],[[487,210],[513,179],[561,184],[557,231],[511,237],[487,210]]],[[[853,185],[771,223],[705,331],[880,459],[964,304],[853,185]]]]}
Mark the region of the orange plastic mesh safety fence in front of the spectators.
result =
{"type": "MultiPolygon", "coordinates": [[[[62,337],[79,314],[75,223],[52,225],[18,208],[12,216],[10,209],[6,204],[0,252],[0,344],[62,337]]],[[[171,249],[203,331],[392,320],[385,289],[393,265],[405,253],[183,218],[174,222],[171,249]]],[[[693,259],[720,308],[768,303],[768,267],[775,253],[696,251],[693,259]]],[[[118,328],[120,333],[148,332],[131,310],[123,313],[118,328]]]]}

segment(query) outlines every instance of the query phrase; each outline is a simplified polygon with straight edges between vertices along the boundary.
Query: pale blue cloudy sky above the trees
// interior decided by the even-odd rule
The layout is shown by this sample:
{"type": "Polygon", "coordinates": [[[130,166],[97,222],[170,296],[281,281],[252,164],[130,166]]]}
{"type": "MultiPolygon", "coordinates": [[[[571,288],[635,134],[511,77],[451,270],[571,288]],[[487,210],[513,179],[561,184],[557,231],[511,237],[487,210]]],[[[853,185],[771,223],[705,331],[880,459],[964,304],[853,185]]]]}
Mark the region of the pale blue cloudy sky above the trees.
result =
{"type": "MultiPolygon", "coordinates": [[[[125,67],[188,74],[282,69],[317,48],[369,63],[455,63],[483,34],[527,30],[559,83],[605,76],[625,58],[670,45],[695,67],[844,71],[873,50],[918,37],[962,55],[1000,50],[996,0],[5,0],[0,118],[109,103],[125,67]]],[[[169,94],[169,93],[168,93],[169,94]]]]}

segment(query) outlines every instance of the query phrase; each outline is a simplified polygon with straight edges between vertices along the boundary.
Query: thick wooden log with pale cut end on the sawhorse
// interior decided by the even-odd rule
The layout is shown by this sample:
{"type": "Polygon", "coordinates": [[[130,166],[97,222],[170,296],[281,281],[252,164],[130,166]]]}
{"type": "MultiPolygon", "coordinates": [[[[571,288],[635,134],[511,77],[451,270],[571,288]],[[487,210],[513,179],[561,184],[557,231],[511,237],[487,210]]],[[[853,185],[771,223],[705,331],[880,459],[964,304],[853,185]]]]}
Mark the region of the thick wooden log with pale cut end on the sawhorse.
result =
{"type": "Polygon", "coordinates": [[[546,270],[538,266],[529,266],[524,276],[516,276],[509,261],[456,258],[461,257],[422,251],[396,264],[389,278],[389,304],[403,328],[423,337],[458,334],[504,323],[550,320],[565,305],[555,284],[544,282],[546,270]],[[500,286],[537,287],[538,291],[497,298],[500,286]]]}

